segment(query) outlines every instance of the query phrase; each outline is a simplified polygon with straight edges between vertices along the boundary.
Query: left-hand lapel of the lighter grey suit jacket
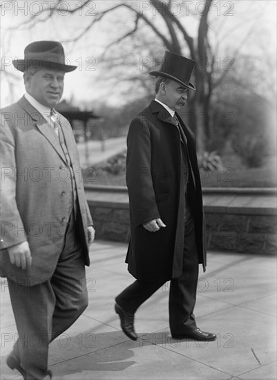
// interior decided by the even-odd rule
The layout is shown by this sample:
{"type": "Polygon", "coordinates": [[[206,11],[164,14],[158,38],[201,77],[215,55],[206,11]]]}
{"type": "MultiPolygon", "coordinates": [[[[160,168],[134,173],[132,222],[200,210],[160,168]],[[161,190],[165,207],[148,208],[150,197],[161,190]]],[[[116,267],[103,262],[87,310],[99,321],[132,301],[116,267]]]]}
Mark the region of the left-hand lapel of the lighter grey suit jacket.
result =
{"type": "Polygon", "coordinates": [[[37,129],[39,129],[41,134],[46,137],[48,142],[50,142],[55,151],[57,151],[60,155],[61,159],[66,162],[61,145],[59,144],[59,139],[57,138],[54,129],[48,125],[41,113],[39,113],[39,111],[37,111],[37,109],[33,107],[25,97],[21,97],[21,99],[19,99],[19,105],[24,109],[24,111],[26,111],[26,113],[28,113],[28,115],[30,115],[33,124],[37,127],[37,129]]]}

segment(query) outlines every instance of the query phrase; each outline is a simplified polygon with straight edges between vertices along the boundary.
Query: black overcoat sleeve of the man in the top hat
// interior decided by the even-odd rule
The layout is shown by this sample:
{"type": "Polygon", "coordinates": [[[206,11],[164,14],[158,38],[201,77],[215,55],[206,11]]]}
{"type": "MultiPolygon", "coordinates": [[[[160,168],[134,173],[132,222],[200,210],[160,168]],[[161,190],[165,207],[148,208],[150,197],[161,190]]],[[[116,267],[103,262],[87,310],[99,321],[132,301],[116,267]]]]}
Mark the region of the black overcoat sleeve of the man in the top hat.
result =
{"type": "Polygon", "coordinates": [[[136,117],[128,130],[126,184],[135,226],[160,218],[151,174],[151,134],[149,122],[136,117]]]}

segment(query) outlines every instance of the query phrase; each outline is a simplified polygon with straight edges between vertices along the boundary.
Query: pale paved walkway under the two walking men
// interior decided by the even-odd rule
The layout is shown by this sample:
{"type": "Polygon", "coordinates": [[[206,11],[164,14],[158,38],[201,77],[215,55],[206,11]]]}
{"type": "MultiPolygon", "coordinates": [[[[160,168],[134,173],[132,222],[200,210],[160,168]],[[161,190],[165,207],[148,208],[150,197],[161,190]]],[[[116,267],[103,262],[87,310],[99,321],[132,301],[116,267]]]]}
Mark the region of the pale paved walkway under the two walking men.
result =
{"type": "MultiPolygon", "coordinates": [[[[195,316],[214,342],[178,341],[169,333],[166,283],[135,316],[136,342],[120,330],[114,298],[133,278],[126,244],[95,242],[87,270],[89,305],[50,348],[54,379],[276,379],[276,257],[209,253],[200,272],[195,316]]],[[[21,379],[5,363],[17,330],[1,282],[1,379],[21,379]]]]}

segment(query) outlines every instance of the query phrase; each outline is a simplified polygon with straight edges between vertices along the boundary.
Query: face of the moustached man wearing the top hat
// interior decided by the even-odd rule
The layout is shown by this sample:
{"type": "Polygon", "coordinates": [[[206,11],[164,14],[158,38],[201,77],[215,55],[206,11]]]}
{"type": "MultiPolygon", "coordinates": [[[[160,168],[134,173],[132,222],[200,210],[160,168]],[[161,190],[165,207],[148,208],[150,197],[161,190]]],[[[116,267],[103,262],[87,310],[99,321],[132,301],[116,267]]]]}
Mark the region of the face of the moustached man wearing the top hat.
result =
{"type": "Polygon", "coordinates": [[[182,84],[171,80],[166,84],[161,84],[163,103],[174,111],[179,111],[185,104],[187,104],[187,93],[189,88],[182,84]]]}

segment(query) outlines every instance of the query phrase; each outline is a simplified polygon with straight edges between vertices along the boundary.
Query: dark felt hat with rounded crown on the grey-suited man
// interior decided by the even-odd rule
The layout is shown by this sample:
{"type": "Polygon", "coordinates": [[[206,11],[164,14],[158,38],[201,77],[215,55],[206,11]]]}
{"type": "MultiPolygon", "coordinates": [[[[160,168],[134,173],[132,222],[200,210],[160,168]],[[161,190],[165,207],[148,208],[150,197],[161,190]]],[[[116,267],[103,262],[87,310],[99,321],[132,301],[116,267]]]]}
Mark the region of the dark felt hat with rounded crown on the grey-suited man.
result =
{"type": "Polygon", "coordinates": [[[14,59],[12,64],[22,72],[26,68],[33,68],[34,70],[48,68],[48,70],[61,70],[69,73],[77,68],[77,66],[66,64],[64,48],[57,41],[32,42],[24,50],[24,59],[14,59]]]}

